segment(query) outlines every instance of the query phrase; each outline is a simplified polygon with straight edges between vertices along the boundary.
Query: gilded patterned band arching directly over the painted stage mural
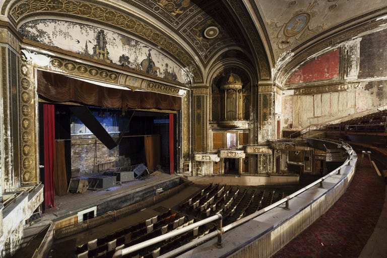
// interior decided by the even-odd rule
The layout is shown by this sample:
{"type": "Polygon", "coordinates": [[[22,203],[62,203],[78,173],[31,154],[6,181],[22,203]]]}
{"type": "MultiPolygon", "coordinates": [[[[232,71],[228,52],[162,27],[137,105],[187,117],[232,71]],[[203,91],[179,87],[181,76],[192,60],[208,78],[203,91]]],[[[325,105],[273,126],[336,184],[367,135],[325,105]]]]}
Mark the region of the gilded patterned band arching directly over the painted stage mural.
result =
{"type": "Polygon", "coordinates": [[[73,17],[77,20],[98,21],[98,23],[108,24],[120,31],[128,31],[139,35],[175,56],[185,67],[190,69],[195,81],[203,81],[200,69],[192,61],[193,58],[176,44],[168,34],[158,31],[153,26],[133,17],[130,13],[122,12],[121,9],[103,5],[97,1],[69,0],[52,2],[49,0],[32,0],[14,3],[10,8],[8,17],[15,25],[20,25],[24,19],[37,13],[39,16],[55,15],[66,16],[67,18],[73,17]]]}

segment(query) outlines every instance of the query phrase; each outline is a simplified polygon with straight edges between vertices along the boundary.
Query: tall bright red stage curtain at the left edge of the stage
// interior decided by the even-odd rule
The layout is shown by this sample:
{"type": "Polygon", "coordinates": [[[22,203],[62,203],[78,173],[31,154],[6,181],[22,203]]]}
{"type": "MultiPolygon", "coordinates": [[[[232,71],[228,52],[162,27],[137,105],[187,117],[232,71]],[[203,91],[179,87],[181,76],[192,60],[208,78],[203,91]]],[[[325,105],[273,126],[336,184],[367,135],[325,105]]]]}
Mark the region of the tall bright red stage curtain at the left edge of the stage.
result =
{"type": "Polygon", "coordinates": [[[44,130],[44,203],[54,204],[55,110],[54,105],[43,104],[44,130]]]}

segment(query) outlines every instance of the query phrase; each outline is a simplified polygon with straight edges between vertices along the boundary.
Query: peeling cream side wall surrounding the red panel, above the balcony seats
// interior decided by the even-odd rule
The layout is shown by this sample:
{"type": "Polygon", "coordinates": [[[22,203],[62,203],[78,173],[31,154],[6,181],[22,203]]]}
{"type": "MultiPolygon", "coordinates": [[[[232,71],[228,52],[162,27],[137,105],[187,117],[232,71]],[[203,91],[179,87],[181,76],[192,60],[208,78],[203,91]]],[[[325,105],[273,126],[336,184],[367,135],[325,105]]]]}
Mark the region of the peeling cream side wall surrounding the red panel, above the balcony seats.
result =
{"type": "MultiPolygon", "coordinates": [[[[340,48],[340,80],[297,82],[293,92],[282,95],[283,128],[305,128],[337,120],[348,120],[387,104],[387,30],[344,42],[340,48]]],[[[335,54],[339,50],[334,51],[335,54]]],[[[306,66],[318,67],[321,62],[306,66]]],[[[329,62],[335,67],[339,62],[329,62]]],[[[300,67],[295,74],[304,73],[300,67]]],[[[289,85],[288,85],[289,86],[289,85]]],[[[286,93],[286,91],[285,91],[286,93]]]]}

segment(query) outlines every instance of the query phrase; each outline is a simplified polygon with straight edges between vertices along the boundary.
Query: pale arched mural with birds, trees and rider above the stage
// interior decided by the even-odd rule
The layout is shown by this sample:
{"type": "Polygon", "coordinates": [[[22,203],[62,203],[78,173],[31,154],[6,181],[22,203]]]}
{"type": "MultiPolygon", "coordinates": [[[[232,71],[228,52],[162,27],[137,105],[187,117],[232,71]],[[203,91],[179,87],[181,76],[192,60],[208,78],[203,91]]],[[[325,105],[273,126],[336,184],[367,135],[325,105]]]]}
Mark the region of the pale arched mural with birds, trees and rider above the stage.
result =
{"type": "Polygon", "coordinates": [[[85,24],[34,20],[19,28],[29,40],[78,53],[137,72],[190,85],[190,78],[166,55],[133,38],[85,24]]]}

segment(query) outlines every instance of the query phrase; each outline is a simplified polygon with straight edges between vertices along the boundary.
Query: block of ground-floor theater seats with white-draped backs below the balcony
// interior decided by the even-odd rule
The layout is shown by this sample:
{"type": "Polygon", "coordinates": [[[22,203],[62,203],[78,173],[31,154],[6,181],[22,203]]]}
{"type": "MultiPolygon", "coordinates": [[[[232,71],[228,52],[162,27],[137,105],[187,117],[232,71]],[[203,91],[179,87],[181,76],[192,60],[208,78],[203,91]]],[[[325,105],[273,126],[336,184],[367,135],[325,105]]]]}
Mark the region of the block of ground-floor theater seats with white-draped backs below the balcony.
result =
{"type": "MultiPolygon", "coordinates": [[[[251,189],[251,187],[247,189],[239,186],[209,184],[178,206],[178,211],[169,210],[113,234],[91,240],[77,247],[76,257],[109,258],[119,249],[141,243],[217,213],[223,215],[223,225],[227,225],[270,205],[276,199],[282,199],[284,196],[282,193],[275,198],[274,193],[274,191],[270,191],[266,195],[265,190],[257,193],[257,190],[251,189]]],[[[124,257],[155,258],[215,230],[216,227],[215,223],[203,225],[124,257]]]]}

